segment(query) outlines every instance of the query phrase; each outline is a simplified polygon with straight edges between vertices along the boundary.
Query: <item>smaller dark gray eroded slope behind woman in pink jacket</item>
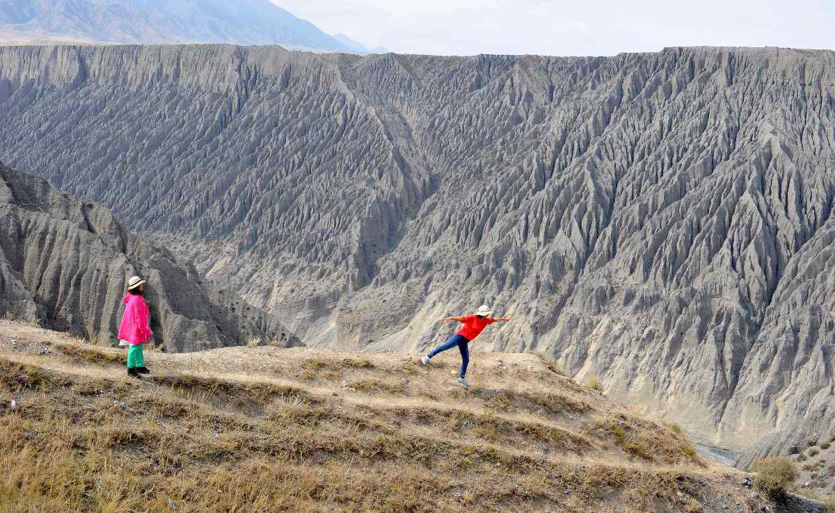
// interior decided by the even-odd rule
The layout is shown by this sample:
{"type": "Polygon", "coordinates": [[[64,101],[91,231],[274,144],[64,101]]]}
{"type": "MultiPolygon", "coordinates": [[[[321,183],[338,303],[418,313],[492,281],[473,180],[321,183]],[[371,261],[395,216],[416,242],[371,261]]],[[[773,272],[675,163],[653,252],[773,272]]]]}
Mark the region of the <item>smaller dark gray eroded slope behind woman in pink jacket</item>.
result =
{"type": "Polygon", "coordinates": [[[158,344],[205,350],[248,339],[301,345],[272,315],[202,282],[190,265],[137,239],[108,209],[0,164],[0,311],[115,342],[127,279],[145,297],[158,344]]]}

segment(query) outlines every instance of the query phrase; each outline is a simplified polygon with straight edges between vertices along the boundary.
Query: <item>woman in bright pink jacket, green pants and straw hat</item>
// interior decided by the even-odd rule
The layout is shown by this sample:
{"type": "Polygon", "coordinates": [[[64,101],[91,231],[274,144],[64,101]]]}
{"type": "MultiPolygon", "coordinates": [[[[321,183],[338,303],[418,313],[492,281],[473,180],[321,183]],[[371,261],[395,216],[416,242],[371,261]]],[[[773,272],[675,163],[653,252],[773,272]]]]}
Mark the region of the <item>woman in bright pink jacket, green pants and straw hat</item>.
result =
{"type": "Polygon", "coordinates": [[[148,374],[150,370],[145,367],[145,359],[142,354],[142,346],[147,344],[154,335],[150,329],[151,313],[148,304],[142,297],[144,279],[134,276],[128,280],[128,294],[125,294],[124,314],[122,324],[119,326],[119,340],[122,345],[129,345],[128,349],[128,375],[132,378],[139,378],[140,374],[148,374]]]}

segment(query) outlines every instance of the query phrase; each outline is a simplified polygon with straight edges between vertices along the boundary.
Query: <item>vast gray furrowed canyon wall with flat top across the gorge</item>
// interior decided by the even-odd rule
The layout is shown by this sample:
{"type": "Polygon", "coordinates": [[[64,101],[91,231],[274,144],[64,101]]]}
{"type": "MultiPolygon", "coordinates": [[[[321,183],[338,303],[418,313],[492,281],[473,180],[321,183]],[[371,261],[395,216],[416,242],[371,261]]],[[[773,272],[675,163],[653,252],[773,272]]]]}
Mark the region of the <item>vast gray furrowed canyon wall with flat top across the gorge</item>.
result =
{"type": "Polygon", "coordinates": [[[0,158],[309,345],[423,350],[489,302],[478,349],[740,450],[833,420],[833,84],[782,48],[3,48],[0,158]]]}

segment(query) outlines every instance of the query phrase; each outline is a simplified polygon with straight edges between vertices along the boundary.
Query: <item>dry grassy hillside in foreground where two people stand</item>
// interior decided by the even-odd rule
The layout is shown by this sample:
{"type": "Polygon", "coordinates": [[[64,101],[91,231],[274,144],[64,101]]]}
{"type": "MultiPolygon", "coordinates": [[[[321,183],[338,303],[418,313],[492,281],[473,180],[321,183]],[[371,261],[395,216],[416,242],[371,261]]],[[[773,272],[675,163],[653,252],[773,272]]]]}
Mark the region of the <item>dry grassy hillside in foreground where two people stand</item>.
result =
{"type": "Polygon", "coordinates": [[[0,512],[751,511],[734,471],[536,355],[124,353],[0,321],[0,512]]]}

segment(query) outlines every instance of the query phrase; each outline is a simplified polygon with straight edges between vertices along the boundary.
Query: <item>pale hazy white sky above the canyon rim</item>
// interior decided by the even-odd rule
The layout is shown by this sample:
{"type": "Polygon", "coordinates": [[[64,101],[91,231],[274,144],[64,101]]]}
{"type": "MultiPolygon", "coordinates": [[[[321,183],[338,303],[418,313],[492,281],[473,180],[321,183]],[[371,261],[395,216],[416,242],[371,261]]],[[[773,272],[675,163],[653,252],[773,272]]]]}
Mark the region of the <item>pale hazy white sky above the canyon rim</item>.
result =
{"type": "Polygon", "coordinates": [[[835,48],[835,0],[272,0],[397,53],[614,55],[669,46],[835,48]]]}

